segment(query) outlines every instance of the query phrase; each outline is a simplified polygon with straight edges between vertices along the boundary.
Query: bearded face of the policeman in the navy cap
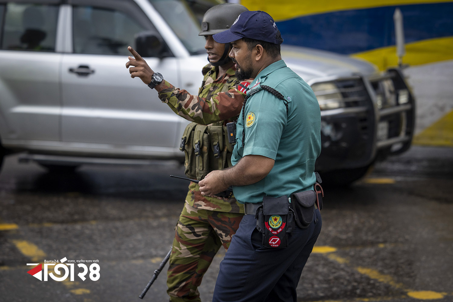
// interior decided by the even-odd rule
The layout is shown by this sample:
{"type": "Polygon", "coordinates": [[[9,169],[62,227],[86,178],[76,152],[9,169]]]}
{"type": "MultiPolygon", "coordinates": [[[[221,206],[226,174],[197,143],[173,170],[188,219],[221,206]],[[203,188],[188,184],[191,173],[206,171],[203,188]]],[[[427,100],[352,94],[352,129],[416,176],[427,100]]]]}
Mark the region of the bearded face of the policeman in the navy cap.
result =
{"type": "Polygon", "coordinates": [[[232,42],[231,46],[229,56],[235,63],[237,79],[241,81],[254,77],[252,52],[249,50],[247,44],[241,39],[232,42]]]}

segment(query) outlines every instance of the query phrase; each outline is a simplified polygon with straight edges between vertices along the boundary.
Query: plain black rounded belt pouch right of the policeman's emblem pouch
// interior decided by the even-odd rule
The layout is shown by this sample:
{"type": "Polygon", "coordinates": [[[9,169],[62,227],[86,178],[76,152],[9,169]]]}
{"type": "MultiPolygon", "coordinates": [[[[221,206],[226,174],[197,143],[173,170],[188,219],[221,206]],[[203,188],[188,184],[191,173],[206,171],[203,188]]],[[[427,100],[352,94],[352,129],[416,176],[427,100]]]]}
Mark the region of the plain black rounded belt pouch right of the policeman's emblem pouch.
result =
{"type": "Polygon", "coordinates": [[[306,229],[313,221],[316,196],[317,194],[314,190],[297,192],[291,195],[290,206],[294,211],[294,220],[301,229],[306,229]]]}

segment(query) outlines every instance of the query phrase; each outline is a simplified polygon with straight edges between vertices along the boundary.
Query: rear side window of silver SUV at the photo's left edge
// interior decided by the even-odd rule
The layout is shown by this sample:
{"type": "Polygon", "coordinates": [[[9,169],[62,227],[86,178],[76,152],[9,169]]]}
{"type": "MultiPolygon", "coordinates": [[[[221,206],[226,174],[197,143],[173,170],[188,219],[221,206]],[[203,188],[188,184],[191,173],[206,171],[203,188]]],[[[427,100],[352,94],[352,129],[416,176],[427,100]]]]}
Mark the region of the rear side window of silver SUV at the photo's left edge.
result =
{"type": "Polygon", "coordinates": [[[6,5],[2,49],[55,51],[58,6],[6,5]]]}

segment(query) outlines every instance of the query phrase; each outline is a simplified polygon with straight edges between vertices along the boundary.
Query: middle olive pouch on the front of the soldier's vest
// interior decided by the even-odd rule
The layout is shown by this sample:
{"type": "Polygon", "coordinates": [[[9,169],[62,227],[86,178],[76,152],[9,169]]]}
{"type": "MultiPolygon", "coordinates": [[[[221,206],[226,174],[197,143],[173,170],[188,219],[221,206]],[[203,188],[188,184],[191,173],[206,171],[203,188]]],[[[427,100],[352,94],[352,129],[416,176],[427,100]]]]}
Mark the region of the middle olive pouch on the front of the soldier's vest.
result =
{"type": "Polygon", "coordinates": [[[207,125],[196,125],[193,135],[193,150],[195,152],[195,174],[198,180],[202,180],[209,170],[209,134],[207,125]]]}

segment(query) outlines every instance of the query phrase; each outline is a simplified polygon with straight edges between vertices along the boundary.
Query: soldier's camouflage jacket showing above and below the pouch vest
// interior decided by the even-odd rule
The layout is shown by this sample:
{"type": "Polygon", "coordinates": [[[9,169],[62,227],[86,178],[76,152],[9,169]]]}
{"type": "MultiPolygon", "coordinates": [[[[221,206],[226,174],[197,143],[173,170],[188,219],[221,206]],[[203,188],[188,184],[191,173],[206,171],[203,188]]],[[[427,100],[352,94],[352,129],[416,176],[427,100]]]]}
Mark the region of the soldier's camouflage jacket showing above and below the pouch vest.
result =
{"type": "MultiPolygon", "coordinates": [[[[164,81],[159,91],[159,99],[184,119],[198,124],[209,125],[216,122],[236,120],[244,102],[247,86],[252,79],[239,81],[235,76],[236,69],[232,66],[226,74],[217,77],[218,68],[207,64],[202,69],[203,82],[198,96],[189,94],[186,90],[175,88],[164,81]]],[[[186,202],[195,208],[243,213],[243,206],[231,198],[229,201],[212,197],[204,197],[198,184],[191,182],[186,202]]]]}

